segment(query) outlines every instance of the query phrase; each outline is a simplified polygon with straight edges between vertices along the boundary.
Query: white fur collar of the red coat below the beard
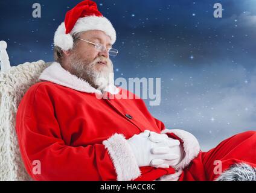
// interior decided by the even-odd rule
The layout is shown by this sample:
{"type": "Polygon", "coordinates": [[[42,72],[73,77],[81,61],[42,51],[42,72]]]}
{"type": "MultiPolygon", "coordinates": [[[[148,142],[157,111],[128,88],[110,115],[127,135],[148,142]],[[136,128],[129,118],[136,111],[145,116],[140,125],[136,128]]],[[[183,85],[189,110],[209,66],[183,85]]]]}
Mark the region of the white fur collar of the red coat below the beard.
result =
{"type": "MultiPolygon", "coordinates": [[[[53,62],[48,68],[46,68],[42,74],[40,74],[39,80],[51,81],[82,92],[102,94],[100,90],[92,87],[87,81],[82,78],[78,78],[69,71],[66,71],[66,69],[62,68],[60,63],[57,62],[53,62]]],[[[115,85],[108,85],[103,91],[110,92],[112,95],[115,95],[120,92],[120,89],[115,85]]]]}

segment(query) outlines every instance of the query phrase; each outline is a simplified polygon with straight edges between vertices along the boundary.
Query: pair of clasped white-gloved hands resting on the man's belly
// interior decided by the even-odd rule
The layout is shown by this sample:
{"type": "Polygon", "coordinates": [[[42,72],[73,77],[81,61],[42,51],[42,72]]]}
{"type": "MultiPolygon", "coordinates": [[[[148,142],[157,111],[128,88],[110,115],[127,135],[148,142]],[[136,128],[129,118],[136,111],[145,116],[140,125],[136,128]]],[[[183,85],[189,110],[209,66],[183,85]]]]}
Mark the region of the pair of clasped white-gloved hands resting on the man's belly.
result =
{"type": "Polygon", "coordinates": [[[181,162],[184,153],[179,140],[149,130],[133,135],[127,142],[138,166],[169,168],[181,162]]]}

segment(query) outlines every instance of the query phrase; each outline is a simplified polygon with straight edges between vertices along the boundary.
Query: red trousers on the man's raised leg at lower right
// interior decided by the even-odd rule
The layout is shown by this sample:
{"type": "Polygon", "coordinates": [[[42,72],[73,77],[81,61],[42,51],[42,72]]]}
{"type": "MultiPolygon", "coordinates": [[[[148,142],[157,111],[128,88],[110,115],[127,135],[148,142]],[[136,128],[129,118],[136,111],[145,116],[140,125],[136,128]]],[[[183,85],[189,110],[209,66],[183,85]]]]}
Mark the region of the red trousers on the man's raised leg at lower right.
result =
{"type": "Polygon", "coordinates": [[[234,163],[256,168],[256,131],[235,134],[207,152],[200,152],[181,174],[179,181],[215,180],[234,163]]]}

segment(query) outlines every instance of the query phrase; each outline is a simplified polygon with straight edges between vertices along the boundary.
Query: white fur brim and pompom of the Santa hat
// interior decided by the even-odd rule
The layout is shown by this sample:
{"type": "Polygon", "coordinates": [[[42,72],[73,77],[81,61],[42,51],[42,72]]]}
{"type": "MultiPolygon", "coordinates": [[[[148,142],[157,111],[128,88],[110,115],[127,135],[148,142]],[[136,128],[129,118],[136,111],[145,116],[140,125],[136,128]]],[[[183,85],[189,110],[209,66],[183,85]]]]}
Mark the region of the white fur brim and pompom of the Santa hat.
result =
{"type": "Polygon", "coordinates": [[[81,17],[77,20],[74,28],[69,34],[66,34],[66,27],[64,22],[62,22],[62,24],[59,25],[56,33],[54,34],[54,45],[59,46],[63,50],[67,51],[68,49],[71,49],[73,47],[73,34],[89,30],[104,31],[104,33],[106,33],[110,37],[112,45],[117,39],[117,34],[113,25],[106,17],[86,16],[81,17]]]}

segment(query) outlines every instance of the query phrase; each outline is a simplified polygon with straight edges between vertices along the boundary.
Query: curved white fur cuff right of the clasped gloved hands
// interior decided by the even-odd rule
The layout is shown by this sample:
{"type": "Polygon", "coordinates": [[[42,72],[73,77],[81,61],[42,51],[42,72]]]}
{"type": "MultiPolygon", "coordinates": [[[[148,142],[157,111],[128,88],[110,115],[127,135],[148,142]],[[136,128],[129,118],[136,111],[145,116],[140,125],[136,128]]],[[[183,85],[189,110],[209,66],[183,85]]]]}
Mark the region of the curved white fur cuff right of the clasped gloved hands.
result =
{"type": "Polygon", "coordinates": [[[178,165],[173,167],[174,169],[178,171],[184,169],[190,164],[191,160],[193,160],[199,154],[199,142],[197,141],[196,137],[193,136],[193,134],[188,133],[188,131],[179,129],[165,129],[161,133],[173,133],[183,142],[185,156],[182,161],[178,163],[178,165]]]}

